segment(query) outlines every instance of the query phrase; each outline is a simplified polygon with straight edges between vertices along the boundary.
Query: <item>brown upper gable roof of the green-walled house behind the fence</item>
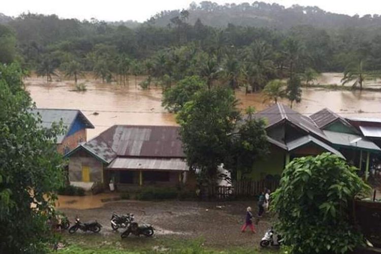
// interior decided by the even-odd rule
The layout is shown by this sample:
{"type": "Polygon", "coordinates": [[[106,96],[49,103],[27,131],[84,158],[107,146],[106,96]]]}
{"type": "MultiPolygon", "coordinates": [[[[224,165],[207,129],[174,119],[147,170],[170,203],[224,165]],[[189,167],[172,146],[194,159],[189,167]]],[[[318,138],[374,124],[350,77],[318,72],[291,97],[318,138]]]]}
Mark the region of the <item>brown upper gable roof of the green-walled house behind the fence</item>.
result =
{"type": "Polygon", "coordinates": [[[273,126],[281,121],[289,121],[292,124],[296,125],[299,129],[302,129],[304,132],[314,134],[327,140],[322,130],[317,127],[311,118],[302,115],[283,104],[274,104],[273,106],[256,113],[255,116],[263,117],[267,120],[266,128],[273,126]]]}

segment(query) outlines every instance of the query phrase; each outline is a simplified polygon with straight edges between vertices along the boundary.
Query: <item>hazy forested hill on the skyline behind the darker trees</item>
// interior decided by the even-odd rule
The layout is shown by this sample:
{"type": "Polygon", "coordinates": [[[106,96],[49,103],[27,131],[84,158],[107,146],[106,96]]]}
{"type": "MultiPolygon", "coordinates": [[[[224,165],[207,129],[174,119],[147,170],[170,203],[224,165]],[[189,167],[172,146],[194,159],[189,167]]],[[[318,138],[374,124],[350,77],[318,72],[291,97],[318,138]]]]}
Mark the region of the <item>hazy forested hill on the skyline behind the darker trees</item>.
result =
{"type": "MultiPolygon", "coordinates": [[[[290,8],[278,4],[254,2],[252,4],[218,5],[204,1],[190,4],[187,23],[194,24],[200,19],[203,24],[226,27],[229,23],[242,26],[290,28],[296,25],[313,25],[318,28],[375,27],[381,25],[381,16],[348,16],[326,12],[318,7],[294,5],[290,8]]],[[[155,24],[171,25],[179,10],[162,11],[154,16],[155,24]]]]}

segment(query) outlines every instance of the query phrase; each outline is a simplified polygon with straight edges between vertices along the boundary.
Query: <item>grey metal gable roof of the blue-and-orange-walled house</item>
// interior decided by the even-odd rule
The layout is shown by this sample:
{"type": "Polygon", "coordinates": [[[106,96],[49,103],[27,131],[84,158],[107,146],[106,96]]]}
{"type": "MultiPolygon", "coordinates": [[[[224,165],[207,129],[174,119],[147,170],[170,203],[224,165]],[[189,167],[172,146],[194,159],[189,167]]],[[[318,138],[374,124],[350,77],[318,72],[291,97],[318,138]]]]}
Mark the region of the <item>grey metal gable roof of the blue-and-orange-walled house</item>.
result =
{"type": "Polygon", "coordinates": [[[32,109],[30,111],[35,115],[40,115],[42,120],[42,128],[51,128],[53,122],[59,123],[62,120],[63,126],[66,128],[66,133],[57,136],[57,144],[62,143],[74,124],[77,117],[84,123],[87,129],[94,129],[94,125],[86,118],[86,116],[76,109],[32,109]]]}

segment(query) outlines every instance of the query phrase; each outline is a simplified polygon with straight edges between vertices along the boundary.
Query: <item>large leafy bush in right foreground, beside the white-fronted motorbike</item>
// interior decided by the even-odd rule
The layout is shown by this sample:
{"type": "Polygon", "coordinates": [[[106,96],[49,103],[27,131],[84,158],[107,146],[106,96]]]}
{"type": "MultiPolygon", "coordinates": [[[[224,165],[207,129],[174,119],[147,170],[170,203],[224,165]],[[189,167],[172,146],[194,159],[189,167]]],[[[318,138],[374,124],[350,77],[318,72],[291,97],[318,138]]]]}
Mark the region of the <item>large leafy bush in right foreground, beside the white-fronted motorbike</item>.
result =
{"type": "Polygon", "coordinates": [[[347,253],[363,242],[350,202],[368,186],[337,155],[294,159],[272,195],[278,229],[291,253],[347,253]]]}

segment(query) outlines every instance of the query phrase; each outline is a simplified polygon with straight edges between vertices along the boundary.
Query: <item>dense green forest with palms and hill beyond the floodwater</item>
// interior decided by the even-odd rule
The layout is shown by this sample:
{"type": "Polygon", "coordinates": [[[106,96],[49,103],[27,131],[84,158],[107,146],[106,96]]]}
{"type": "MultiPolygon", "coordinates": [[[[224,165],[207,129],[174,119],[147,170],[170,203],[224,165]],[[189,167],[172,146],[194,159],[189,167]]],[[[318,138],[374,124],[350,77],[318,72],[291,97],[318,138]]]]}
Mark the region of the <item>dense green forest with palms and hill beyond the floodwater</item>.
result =
{"type": "Polygon", "coordinates": [[[218,80],[256,91],[270,80],[288,78],[288,91],[299,93],[300,83],[316,72],[344,72],[343,82],[362,86],[365,74],[381,70],[377,15],[201,2],[158,13],[142,24],[31,13],[2,17],[0,61],[16,59],[47,81],[56,70],[76,81],[91,71],[104,82],[123,84],[129,75],[144,74],[141,86],[147,88],[152,80],[170,86],[197,75],[208,86],[218,80]]]}

